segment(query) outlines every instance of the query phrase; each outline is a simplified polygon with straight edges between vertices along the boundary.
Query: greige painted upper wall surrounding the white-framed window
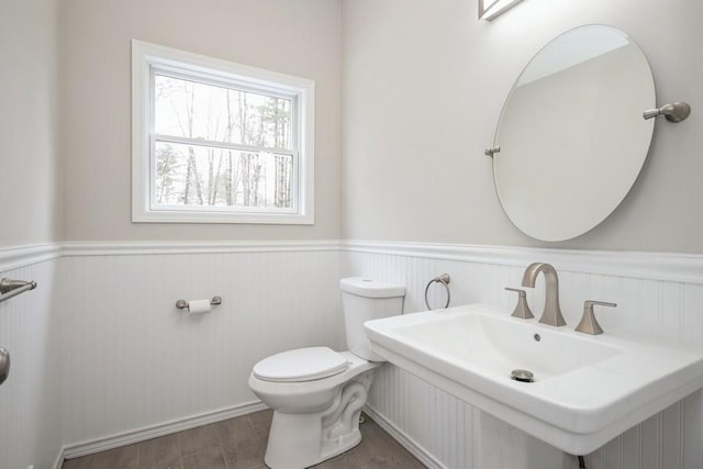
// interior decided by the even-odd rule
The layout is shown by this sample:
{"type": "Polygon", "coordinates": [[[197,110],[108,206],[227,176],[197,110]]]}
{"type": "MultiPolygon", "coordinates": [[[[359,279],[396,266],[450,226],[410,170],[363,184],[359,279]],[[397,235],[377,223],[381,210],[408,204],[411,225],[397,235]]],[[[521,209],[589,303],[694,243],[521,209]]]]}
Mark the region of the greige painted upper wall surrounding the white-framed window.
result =
{"type": "Polygon", "coordinates": [[[65,0],[62,7],[66,241],[339,237],[339,1],[65,0]],[[315,81],[314,226],[131,222],[132,38],[315,81]]]}

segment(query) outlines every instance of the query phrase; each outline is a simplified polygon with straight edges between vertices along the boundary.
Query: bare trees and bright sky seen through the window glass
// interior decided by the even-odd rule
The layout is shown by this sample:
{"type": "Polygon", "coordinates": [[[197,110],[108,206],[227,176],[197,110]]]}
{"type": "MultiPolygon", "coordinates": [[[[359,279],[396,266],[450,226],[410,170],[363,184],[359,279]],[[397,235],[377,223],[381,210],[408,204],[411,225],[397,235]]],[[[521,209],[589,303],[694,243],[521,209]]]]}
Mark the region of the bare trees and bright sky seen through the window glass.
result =
{"type": "Polygon", "coordinates": [[[293,206],[290,99],[153,77],[157,204],[293,206]]]}

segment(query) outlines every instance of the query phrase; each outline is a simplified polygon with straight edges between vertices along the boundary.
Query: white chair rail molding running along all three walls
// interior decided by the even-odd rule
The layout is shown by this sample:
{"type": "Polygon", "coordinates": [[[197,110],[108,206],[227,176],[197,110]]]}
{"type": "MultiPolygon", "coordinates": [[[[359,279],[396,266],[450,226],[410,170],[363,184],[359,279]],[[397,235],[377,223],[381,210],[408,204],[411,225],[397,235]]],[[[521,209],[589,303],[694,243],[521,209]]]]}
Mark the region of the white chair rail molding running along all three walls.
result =
{"type": "Polygon", "coordinates": [[[77,256],[154,254],[223,254],[283,252],[356,252],[447,259],[466,263],[526,266],[535,259],[559,270],[703,283],[703,255],[628,250],[577,250],[468,244],[375,242],[354,239],[236,242],[65,242],[0,248],[0,272],[32,264],[77,256]]]}

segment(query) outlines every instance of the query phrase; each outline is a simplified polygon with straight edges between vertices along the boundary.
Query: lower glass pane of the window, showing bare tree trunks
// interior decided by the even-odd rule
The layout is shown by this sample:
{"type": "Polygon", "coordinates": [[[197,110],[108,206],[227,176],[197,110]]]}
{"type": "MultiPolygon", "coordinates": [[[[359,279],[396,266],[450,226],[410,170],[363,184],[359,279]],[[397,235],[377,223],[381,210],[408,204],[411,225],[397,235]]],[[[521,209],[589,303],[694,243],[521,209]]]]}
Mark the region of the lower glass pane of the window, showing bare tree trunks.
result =
{"type": "Polygon", "coordinates": [[[291,209],[293,157],[156,142],[158,205],[291,209]]]}

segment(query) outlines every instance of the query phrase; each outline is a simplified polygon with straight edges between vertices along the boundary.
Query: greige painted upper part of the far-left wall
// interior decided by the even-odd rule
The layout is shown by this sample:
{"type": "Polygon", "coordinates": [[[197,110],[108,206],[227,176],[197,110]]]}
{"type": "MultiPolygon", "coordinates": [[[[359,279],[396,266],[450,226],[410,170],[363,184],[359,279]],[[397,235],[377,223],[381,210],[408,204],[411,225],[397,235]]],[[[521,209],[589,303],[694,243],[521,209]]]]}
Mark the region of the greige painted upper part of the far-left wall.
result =
{"type": "Polygon", "coordinates": [[[56,241],[58,2],[0,2],[0,248],[56,241]]]}

